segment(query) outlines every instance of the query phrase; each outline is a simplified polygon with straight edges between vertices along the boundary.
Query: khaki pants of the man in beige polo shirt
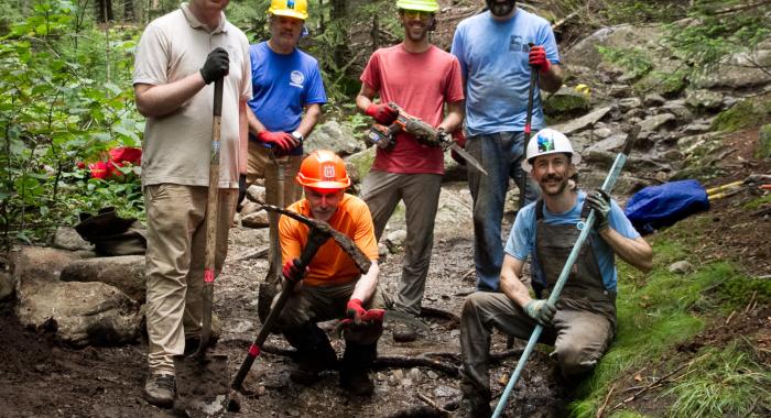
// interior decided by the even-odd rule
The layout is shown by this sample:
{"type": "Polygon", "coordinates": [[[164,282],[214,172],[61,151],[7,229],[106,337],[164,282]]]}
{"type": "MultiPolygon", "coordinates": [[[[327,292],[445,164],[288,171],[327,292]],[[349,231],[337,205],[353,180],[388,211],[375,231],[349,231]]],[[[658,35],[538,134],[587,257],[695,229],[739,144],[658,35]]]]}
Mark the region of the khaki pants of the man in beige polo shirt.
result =
{"type": "MultiPolygon", "coordinates": [[[[146,321],[151,373],[174,373],[185,337],[200,334],[207,187],[144,187],[148,213],[146,321]]],[[[222,270],[238,190],[219,189],[216,274],[222,270]]]]}

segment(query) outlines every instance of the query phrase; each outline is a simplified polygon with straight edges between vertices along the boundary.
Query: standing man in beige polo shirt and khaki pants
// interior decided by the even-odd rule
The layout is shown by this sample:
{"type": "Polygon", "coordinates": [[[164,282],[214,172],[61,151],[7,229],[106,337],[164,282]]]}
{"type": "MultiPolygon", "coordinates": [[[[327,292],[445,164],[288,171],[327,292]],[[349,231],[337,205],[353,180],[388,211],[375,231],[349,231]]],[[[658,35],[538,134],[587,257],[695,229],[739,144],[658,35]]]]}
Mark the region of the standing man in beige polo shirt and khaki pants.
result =
{"type": "Polygon", "coordinates": [[[227,4],[183,3],[152,21],[137,47],[137,108],[148,118],[142,190],[150,376],[144,396],[161,407],[174,402],[173,356],[195,351],[200,342],[211,82],[222,77],[216,274],[227,254],[239,172],[246,173],[246,164],[239,169],[239,142],[246,143],[246,101],[251,98],[249,42],[225,19],[227,4]]]}

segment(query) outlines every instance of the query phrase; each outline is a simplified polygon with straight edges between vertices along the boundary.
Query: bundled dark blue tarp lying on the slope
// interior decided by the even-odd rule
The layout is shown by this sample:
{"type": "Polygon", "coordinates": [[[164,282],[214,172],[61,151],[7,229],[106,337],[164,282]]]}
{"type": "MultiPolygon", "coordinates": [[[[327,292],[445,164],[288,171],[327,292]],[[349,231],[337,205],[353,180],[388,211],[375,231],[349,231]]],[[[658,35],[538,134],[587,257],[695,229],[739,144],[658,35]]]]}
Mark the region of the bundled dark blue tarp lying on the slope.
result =
{"type": "Polygon", "coordinates": [[[680,180],[636,193],[627,202],[625,213],[638,232],[647,234],[708,209],[709,199],[702,184],[680,180]]]}

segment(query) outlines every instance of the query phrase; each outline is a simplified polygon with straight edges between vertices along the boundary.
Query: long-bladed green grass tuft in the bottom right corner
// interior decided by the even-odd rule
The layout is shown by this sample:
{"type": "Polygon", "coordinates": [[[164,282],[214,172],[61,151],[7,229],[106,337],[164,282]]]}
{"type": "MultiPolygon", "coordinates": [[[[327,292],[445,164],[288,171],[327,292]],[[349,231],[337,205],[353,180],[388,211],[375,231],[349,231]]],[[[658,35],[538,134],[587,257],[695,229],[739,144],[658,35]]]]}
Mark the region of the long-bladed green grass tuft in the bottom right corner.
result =
{"type": "Polygon", "coordinates": [[[664,393],[675,397],[667,416],[747,417],[751,409],[771,407],[771,372],[747,351],[738,343],[707,350],[687,377],[664,393]]]}

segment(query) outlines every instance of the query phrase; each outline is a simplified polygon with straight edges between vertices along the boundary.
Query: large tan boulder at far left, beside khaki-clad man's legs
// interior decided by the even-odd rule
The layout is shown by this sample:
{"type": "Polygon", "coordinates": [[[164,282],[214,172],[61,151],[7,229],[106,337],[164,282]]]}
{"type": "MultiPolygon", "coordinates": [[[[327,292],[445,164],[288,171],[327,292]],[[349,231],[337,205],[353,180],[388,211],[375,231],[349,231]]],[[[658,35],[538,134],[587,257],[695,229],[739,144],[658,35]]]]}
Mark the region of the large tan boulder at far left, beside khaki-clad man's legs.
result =
{"type": "Polygon", "coordinates": [[[104,283],[64,283],[61,272],[77,255],[62,250],[24,248],[13,261],[17,316],[33,329],[56,333],[65,343],[120,344],[135,340],[142,315],[139,305],[104,283]]]}

